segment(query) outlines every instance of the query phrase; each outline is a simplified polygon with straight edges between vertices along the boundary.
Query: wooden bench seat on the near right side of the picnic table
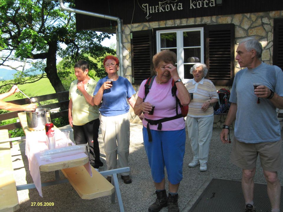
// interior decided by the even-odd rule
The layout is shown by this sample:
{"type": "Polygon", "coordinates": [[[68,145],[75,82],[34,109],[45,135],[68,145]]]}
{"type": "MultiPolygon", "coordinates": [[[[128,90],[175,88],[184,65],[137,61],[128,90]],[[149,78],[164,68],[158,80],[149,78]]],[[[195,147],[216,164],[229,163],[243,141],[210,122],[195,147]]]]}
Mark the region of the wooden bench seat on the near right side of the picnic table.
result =
{"type": "Polygon", "coordinates": [[[76,166],[61,170],[82,199],[93,199],[111,195],[114,186],[92,166],[92,177],[84,166],[76,166]]]}

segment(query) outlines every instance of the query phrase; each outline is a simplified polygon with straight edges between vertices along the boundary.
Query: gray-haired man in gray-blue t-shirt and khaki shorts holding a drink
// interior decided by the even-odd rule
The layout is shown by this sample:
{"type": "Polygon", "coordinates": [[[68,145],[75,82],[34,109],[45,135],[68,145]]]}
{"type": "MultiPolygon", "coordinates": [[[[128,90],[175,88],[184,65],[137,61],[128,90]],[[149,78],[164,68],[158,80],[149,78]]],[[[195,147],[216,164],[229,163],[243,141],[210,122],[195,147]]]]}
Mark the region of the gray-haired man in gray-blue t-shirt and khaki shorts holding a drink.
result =
{"type": "Polygon", "coordinates": [[[242,168],[245,211],[255,211],[254,175],[259,155],[267,181],[272,211],[280,211],[281,186],[277,171],[283,167],[280,124],[276,108],[283,109],[283,72],[261,62],[261,44],[252,38],[239,43],[236,50],[241,69],[231,89],[231,106],[220,134],[228,143],[229,126],[235,120],[235,141],[231,162],[242,168]],[[259,85],[254,87],[254,83],[259,85]]]}

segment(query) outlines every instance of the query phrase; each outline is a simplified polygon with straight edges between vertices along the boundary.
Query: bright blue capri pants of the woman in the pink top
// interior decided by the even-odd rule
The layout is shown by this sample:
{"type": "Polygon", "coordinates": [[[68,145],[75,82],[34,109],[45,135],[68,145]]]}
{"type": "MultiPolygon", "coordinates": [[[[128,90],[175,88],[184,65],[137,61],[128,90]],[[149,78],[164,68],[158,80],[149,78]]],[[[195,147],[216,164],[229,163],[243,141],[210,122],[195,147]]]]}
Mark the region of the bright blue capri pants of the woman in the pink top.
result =
{"type": "Polygon", "coordinates": [[[152,142],[148,141],[147,128],[143,127],[144,148],[147,153],[151,175],[155,183],[164,178],[166,167],[168,180],[178,184],[183,178],[183,160],[185,155],[186,132],[182,130],[150,130],[152,142]]]}

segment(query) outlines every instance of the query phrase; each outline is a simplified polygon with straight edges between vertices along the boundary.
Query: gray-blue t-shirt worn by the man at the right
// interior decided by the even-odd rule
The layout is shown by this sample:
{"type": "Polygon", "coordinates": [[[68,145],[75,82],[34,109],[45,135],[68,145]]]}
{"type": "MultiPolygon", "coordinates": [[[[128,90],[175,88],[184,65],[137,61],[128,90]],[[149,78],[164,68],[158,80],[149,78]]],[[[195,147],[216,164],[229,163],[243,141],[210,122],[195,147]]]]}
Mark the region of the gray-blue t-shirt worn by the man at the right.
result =
{"type": "Polygon", "coordinates": [[[261,63],[254,69],[240,70],[234,79],[229,101],[237,104],[235,138],[244,143],[275,142],[281,139],[276,107],[266,98],[254,94],[253,83],[283,96],[283,72],[277,66],[261,63]]]}

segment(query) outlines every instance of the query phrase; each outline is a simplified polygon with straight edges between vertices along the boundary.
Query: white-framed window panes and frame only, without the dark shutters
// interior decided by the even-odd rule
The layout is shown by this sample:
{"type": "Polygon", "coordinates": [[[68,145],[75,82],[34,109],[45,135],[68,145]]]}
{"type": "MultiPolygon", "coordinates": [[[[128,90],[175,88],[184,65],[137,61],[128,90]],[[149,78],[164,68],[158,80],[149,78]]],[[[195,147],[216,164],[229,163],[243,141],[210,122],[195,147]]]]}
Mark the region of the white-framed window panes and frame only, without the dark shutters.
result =
{"type": "Polygon", "coordinates": [[[169,49],[177,54],[176,66],[182,81],[192,79],[190,68],[197,62],[204,63],[203,27],[159,30],[156,39],[157,52],[169,49]]]}

